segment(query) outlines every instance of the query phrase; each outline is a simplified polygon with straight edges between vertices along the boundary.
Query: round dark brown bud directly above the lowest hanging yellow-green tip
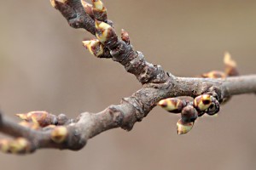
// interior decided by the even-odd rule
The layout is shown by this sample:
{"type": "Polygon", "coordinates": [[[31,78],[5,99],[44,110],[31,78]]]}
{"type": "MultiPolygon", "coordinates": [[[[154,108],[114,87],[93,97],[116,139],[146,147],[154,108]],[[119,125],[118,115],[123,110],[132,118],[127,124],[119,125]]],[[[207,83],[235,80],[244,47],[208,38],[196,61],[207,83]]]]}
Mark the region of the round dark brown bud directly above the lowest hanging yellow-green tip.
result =
{"type": "Polygon", "coordinates": [[[189,123],[189,122],[195,122],[195,119],[198,116],[197,111],[192,105],[187,105],[183,108],[183,111],[181,112],[182,116],[182,122],[189,123]]]}

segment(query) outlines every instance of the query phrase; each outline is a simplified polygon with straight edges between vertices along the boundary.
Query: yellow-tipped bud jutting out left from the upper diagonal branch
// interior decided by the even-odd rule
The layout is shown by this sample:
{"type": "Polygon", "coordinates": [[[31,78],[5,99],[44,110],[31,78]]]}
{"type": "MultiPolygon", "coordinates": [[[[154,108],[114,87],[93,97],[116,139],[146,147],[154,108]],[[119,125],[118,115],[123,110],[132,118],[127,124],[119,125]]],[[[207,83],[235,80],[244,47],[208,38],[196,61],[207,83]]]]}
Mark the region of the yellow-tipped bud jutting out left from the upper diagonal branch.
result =
{"type": "Polygon", "coordinates": [[[83,45],[89,50],[90,54],[93,54],[96,57],[101,56],[104,52],[103,45],[98,39],[83,41],[83,45]]]}

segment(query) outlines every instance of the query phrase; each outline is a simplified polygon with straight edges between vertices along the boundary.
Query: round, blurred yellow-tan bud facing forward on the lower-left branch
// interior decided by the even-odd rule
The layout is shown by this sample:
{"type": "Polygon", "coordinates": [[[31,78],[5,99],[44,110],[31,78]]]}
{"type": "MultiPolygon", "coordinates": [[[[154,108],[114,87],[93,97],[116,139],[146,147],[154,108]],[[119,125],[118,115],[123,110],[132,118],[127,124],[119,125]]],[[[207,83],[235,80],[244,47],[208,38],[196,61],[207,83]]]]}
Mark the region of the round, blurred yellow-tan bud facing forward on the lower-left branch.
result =
{"type": "Polygon", "coordinates": [[[50,137],[55,143],[61,144],[67,139],[67,127],[55,127],[51,132],[50,137]]]}

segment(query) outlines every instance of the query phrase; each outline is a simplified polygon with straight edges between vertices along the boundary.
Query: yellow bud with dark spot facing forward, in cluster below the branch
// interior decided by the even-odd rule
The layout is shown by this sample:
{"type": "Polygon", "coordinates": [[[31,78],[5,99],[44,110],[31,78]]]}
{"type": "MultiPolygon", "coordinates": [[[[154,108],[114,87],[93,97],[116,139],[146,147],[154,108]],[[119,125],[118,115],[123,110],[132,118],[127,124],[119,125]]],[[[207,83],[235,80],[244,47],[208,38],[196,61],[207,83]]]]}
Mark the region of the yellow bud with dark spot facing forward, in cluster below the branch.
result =
{"type": "Polygon", "coordinates": [[[194,107],[198,111],[206,111],[212,104],[212,98],[209,94],[202,94],[194,99],[194,107]]]}

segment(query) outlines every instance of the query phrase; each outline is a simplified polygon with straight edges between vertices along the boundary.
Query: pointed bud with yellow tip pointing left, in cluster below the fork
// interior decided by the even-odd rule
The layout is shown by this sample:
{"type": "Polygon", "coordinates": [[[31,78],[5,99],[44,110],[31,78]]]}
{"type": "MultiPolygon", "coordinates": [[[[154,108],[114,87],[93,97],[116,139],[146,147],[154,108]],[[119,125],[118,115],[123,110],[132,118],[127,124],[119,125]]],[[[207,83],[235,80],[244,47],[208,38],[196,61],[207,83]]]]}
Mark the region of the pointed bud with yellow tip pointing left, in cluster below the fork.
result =
{"type": "Polygon", "coordinates": [[[184,107],[183,100],[177,98],[162,99],[157,105],[172,113],[180,113],[184,107]]]}

